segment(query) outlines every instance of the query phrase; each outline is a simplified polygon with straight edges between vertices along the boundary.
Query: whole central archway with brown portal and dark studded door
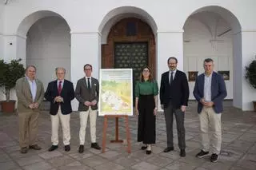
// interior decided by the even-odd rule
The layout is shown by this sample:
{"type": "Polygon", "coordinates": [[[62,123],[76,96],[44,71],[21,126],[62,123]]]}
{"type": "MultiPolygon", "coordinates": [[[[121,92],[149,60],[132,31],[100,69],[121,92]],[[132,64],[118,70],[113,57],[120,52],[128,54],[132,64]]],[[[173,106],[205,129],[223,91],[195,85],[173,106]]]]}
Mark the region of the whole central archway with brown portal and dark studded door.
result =
{"type": "Polygon", "coordinates": [[[145,10],[133,6],[111,10],[103,18],[99,32],[102,35],[102,68],[133,69],[134,85],[145,65],[149,65],[153,77],[156,76],[157,25],[145,10]]]}

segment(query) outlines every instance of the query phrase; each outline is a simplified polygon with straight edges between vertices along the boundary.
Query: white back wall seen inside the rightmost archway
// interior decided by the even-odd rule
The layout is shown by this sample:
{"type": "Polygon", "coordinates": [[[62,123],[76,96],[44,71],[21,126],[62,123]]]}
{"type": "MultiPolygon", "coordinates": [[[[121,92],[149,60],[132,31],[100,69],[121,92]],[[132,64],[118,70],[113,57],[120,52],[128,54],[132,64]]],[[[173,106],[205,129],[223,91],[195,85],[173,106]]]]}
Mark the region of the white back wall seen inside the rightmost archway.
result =
{"type": "MultiPolygon", "coordinates": [[[[233,99],[233,36],[231,30],[223,34],[226,30],[230,26],[218,14],[202,12],[191,16],[184,26],[184,71],[187,75],[188,71],[204,73],[204,59],[212,58],[214,71],[230,71],[230,80],[225,81],[226,99],[233,99]]],[[[189,86],[190,99],[194,99],[194,81],[189,81],[189,86]]]]}

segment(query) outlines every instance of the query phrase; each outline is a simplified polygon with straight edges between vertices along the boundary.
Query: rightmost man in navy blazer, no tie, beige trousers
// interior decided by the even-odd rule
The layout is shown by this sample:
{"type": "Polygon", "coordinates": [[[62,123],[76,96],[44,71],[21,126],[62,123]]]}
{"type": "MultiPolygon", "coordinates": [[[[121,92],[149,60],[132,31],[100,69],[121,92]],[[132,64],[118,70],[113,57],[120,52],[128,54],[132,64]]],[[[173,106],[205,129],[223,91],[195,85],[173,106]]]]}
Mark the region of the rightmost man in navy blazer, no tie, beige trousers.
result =
{"type": "Polygon", "coordinates": [[[222,145],[222,101],[226,97],[226,85],[222,75],[214,72],[214,61],[210,58],[204,61],[205,73],[197,77],[194,85],[194,97],[198,101],[198,115],[202,136],[202,150],[196,155],[199,158],[207,156],[210,151],[211,162],[218,161],[222,145]],[[213,131],[209,139],[208,128],[213,131]],[[211,144],[210,144],[211,141],[211,144]]]}

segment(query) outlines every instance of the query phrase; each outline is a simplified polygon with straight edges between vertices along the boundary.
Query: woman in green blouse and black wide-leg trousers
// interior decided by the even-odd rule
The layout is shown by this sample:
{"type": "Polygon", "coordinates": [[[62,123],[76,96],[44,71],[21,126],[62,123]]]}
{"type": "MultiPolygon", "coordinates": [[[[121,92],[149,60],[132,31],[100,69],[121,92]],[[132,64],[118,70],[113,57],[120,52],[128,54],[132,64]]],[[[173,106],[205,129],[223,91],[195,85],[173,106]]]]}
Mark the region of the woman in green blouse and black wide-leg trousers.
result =
{"type": "Polygon", "coordinates": [[[151,153],[155,144],[155,116],[158,112],[158,83],[152,79],[150,67],[142,69],[135,86],[135,113],[138,115],[138,142],[145,144],[142,150],[151,153]]]}

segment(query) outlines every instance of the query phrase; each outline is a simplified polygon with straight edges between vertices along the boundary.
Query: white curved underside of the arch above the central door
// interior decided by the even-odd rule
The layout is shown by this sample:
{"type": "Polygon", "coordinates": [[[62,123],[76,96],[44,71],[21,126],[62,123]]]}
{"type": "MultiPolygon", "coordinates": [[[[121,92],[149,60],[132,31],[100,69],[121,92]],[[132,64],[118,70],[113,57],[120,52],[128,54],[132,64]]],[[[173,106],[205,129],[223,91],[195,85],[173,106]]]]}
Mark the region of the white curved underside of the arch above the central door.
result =
{"type": "Polygon", "coordinates": [[[98,32],[102,34],[102,44],[106,43],[107,36],[110,32],[112,26],[115,23],[122,20],[123,18],[138,18],[143,22],[150,25],[154,36],[156,37],[158,26],[154,21],[154,18],[150,16],[145,10],[142,10],[134,6],[121,6],[110,10],[108,14],[102,19],[100,26],[98,27],[98,32]]]}

